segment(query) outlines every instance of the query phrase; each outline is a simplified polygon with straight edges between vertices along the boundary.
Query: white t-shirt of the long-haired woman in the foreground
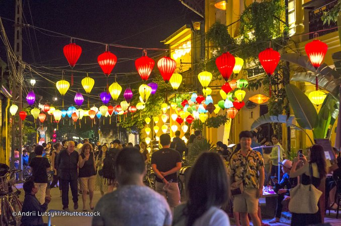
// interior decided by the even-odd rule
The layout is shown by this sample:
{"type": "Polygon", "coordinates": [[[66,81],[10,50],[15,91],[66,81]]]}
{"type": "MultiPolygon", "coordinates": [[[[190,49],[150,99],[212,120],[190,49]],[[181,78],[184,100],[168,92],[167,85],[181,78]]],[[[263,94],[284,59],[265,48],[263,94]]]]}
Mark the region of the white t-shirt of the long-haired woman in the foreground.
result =
{"type": "MultiPolygon", "coordinates": [[[[174,210],[174,226],[186,225],[186,217],[183,210],[186,203],[177,206],[174,210]]],[[[216,206],[211,206],[202,216],[194,222],[193,226],[230,226],[227,214],[216,206]]]]}

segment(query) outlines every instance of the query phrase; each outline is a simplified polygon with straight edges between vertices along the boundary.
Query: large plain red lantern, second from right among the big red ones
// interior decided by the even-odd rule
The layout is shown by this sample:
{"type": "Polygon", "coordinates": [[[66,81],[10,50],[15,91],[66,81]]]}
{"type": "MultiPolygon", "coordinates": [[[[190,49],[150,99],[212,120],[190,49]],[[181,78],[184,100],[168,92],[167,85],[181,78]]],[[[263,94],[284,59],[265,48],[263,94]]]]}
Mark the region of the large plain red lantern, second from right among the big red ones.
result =
{"type": "Polygon", "coordinates": [[[267,48],[258,55],[265,72],[271,76],[280,62],[281,54],[272,48],[267,48]]]}

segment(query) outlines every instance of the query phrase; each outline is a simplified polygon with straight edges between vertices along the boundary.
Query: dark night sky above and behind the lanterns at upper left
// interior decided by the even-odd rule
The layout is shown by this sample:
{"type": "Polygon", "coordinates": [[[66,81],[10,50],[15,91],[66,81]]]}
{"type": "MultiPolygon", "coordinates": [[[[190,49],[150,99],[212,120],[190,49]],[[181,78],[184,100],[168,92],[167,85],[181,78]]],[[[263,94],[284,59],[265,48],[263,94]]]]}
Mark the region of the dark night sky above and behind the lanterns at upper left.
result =
{"type": "MultiPolygon", "coordinates": [[[[160,41],[176,32],[185,24],[192,24],[192,20],[202,20],[194,12],[186,8],[177,0],[136,0],[136,1],[27,1],[23,0],[24,24],[61,33],[67,36],[92,40],[101,43],[114,43],[125,46],[141,48],[161,48],[165,45],[160,41]]],[[[0,16],[14,20],[15,1],[0,1],[0,16]]],[[[8,39],[13,45],[14,22],[3,19],[8,39]]],[[[69,43],[69,38],[58,37],[57,34],[23,29],[23,61],[35,67],[50,67],[53,70],[40,68],[46,71],[46,76],[52,81],[61,79],[61,70],[70,67],[63,55],[63,47],[69,43]],[[58,77],[59,75],[59,77],[58,77]]],[[[96,72],[91,76],[95,79],[95,87],[105,86],[105,77],[97,64],[97,57],[105,51],[105,46],[85,41],[75,40],[82,48],[82,54],[74,67],[75,85],[73,90],[79,88],[80,80],[85,77],[83,72],[96,72]]],[[[136,73],[134,59],[142,56],[142,50],[109,47],[109,50],[118,58],[109,85],[113,82],[115,73],[136,73]]],[[[164,51],[149,50],[148,56],[156,57],[164,51]]],[[[0,57],[6,61],[6,52],[3,44],[0,45],[0,57]]],[[[155,63],[156,68],[156,63],[155,63]]],[[[154,69],[155,69],[154,68],[154,69]]],[[[69,76],[66,72],[66,76],[69,76]]],[[[119,74],[119,83],[124,83],[124,74],[119,74]]],[[[128,76],[128,75],[127,75],[128,76]]],[[[138,74],[129,74],[140,79],[138,74]]],[[[25,79],[30,75],[25,74],[25,79]]],[[[37,79],[37,87],[44,91],[36,91],[44,96],[43,100],[50,101],[49,95],[54,96],[53,85],[37,79]],[[47,92],[48,90],[48,92],[47,92]]],[[[69,80],[69,78],[67,79],[69,80]]],[[[142,83],[142,80],[140,80],[142,83]]],[[[123,86],[123,91],[126,87],[123,86]]],[[[94,88],[94,95],[101,89],[94,88]]],[[[103,88],[102,88],[103,91],[103,88]]],[[[123,93],[122,91],[122,93],[123,93]]],[[[93,93],[93,92],[92,92],[93,93]]],[[[74,93],[69,93],[69,99],[74,93]]],[[[121,94],[122,95],[122,94],[121,94]]],[[[57,96],[60,97],[58,91],[57,96]]],[[[100,102],[100,101],[98,101],[100,102]]]]}

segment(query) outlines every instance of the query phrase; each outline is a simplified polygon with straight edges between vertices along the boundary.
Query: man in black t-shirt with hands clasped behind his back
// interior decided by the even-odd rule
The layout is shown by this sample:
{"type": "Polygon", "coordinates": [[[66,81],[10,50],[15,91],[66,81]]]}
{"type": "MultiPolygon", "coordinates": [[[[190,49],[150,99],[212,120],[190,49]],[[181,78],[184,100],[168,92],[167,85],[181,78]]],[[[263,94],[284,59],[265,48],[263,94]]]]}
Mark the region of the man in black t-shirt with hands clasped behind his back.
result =
{"type": "Polygon", "coordinates": [[[181,169],[181,156],[178,151],[169,148],[168,134],[160,136],[160,144],[162,149],[151,156],[151,167],[157,175],[155,190],[165,198],[168,197],[169,207],[174,208],[180,204],[177,172],[181,169]]]}

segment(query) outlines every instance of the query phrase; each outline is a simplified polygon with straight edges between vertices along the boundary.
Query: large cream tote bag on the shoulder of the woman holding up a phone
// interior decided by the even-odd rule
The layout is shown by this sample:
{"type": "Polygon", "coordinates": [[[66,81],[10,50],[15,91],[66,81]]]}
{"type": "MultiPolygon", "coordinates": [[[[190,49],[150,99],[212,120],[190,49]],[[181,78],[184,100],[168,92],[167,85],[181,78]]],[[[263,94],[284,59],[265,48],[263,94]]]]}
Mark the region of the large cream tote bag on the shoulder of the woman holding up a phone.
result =
{"type": "MultiPolygon", "coordinates": [[[[289,210],[294,213],[316,213],[318,211],[318,200],[322,195],[322,191],[318,190],[312,181],[312,167],[310,169],[310,184],[298,184],[290,189],[289,210]]],[[[301,177],[302,180],[302,177],[301,177]]]]}

